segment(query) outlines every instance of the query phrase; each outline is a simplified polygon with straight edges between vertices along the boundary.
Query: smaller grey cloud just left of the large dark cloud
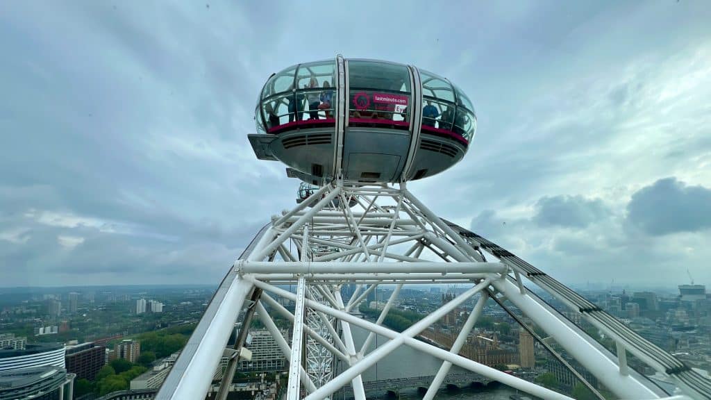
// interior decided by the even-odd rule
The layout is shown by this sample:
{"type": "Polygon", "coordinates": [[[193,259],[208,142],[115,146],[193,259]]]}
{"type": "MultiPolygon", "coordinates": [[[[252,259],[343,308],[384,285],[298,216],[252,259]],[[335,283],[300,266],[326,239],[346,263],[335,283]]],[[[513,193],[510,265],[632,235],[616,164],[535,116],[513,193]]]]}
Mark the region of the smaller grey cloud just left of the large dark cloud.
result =
{"type": "Polygon", "coordinates": [[[535,208],[533,221],[539,226],[585,228],[609,214],[602,200],[588,200],[582,196],[543,197],[536,202],[535,208]]]}

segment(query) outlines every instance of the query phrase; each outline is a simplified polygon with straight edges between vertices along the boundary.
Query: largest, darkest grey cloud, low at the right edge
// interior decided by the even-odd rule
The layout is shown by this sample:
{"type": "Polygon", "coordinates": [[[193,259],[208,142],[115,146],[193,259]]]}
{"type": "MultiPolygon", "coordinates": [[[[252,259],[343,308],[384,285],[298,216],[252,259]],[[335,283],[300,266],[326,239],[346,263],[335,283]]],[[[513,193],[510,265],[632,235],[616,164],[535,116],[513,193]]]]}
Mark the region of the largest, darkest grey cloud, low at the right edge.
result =
{"type": "Polygon", "coordinates": [[[711,228],[711,189],[659,179],[636,191],[627,205],[628,221],[653,236],[711,228]]]}

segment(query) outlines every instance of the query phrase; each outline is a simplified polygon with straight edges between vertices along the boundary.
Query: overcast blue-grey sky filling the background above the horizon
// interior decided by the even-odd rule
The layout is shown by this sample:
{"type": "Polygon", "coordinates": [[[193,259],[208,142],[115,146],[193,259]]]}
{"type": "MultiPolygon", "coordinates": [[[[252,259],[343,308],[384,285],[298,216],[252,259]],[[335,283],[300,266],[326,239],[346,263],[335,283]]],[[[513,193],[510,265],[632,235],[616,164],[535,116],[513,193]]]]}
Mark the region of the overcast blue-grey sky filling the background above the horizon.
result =
{"type": "Polygon", "coordinates": [[[218,283],[294,206],[257,93],[336,53],[469,94],[438,214],[565,283],[711,285],[711,7],[478,3],[0,2],[0,286],[218,283]]]}

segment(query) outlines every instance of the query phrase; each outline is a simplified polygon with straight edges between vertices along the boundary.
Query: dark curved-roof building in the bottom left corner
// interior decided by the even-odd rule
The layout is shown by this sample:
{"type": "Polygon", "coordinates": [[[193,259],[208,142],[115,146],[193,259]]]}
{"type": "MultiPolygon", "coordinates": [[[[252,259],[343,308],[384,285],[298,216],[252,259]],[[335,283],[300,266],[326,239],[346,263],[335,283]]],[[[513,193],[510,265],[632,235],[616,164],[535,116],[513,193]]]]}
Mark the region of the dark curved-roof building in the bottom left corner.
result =
{"type": "Polygon", "coordinates": [[[0,399],[73,399],[74,374],[54,366],[0,372],[0,399]]]}

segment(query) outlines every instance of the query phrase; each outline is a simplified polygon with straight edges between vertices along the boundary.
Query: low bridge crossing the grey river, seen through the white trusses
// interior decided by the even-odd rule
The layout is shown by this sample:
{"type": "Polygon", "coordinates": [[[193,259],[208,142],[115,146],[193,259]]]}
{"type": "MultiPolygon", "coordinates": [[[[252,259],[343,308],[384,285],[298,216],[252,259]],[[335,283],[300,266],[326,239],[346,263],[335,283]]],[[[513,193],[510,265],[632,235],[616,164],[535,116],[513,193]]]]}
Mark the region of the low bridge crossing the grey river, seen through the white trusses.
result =
{"type": "MultiPolygon", "coordinates": [[[[427,389],[433,379],[434,375],[427,377],[380,379],[378,381],[364,381],[363,386],[365,387],[366,394],[375,394],[376,392],[382,392],[385,394],[386,391],[395,391],[397,389],[408,389],[414,387],[422,387],[427,389]]],[[[477,383],[486,385],[491,383],[491,379],[474,373],[448,374],[447,377],[444,378],[440,388],[447,386],[464,387],[477,383]]],[[[353,398],[353,389],[350,384],[343,386],[343,389],[336,393],[337,394],[333,396],[333,399],[343,399],[344,397],[353,398]]]]}

